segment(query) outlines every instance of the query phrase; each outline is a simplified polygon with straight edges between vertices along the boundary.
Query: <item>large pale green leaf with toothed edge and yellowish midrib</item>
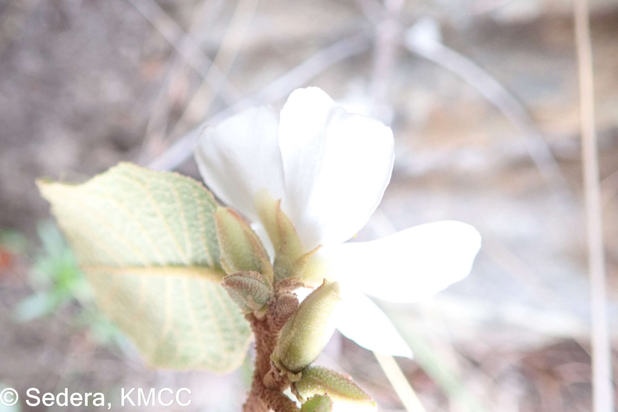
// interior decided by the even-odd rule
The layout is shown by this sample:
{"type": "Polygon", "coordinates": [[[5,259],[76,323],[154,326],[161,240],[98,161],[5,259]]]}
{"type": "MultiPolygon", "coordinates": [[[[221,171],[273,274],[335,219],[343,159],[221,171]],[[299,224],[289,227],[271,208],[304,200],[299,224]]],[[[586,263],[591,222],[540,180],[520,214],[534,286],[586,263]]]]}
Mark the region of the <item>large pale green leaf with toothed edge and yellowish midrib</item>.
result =
{"type": "Polygon", "coordinates": [[[148,364],[224,373],[250,329],[220,285],[213,213],[197,181],[130,163],[83,184],[38,181],[99,307],[148,364]]]}

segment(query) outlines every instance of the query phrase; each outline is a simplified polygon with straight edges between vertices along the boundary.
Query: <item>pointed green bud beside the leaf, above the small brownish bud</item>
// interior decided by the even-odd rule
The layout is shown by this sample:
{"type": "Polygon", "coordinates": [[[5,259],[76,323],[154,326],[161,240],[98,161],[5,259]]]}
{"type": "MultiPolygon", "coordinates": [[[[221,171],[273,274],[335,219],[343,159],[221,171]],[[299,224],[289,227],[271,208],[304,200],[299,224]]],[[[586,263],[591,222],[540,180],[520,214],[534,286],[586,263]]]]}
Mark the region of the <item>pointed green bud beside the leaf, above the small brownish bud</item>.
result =
{"type": "Polygon", "coordinates": [[[214,213],[217,238],[221,249],[221,266],[227,274],[257,272],[272,289],[273,266],[260,238],[238,213],[219,207],[214,213]]]}

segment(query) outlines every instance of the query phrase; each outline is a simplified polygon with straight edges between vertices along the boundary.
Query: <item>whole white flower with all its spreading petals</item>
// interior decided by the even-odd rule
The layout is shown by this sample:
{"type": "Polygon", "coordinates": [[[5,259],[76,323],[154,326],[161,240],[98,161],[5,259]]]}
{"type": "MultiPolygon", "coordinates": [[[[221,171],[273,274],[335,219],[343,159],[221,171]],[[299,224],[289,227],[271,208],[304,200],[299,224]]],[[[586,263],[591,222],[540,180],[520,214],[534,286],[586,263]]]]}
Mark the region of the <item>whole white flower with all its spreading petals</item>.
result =
{"type": "Polygon", "coordinates": [[[321,246],[313,262],[342,286],[337,328],[379,353],[412,356],[365,294],[392,302],[429,297],[465,278],[480,248],[476,229],[456,221],[344,243],[368,221],[391,179],[392,132],[346,112],[318,88],[295,90],[278,119],[260,106],[206,128],[195,159],[206,185],[254,223],[267,247],[256,195],[281,199],[303,250],[321,246]]]}

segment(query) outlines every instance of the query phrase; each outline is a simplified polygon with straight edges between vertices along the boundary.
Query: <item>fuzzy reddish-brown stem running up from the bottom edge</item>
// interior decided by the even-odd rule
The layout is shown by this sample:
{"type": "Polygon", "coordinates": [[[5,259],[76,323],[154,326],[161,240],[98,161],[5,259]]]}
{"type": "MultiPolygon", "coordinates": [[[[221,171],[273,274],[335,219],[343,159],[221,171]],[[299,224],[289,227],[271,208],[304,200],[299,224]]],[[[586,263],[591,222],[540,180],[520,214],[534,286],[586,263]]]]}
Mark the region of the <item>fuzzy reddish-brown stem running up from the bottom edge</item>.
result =
{"type": "Polygon", "coordinates": [[[266,316],[258,319],[250,313],[246,316],[255,336],[255,369],[253,382],[243,412],[295,412],[294,401],[283,395],[290,385],[286,375],[279,374],[271,363],[270,356],[281,334],[281,328],[298,307],[298,299],[287,292],[275,292],[269,302],[266,316]]]}

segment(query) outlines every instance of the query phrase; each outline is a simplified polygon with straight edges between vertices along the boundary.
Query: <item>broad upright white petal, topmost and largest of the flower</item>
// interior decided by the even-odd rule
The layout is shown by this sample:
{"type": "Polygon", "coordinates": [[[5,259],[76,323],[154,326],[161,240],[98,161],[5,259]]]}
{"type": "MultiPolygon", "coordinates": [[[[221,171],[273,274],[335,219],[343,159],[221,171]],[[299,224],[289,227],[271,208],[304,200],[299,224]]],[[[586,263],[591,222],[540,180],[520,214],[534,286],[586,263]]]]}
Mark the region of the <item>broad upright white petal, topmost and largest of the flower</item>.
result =
{"type": "Polygon", "coordinates": [[[279,146],[287,213],[307,249],[362,228],[391,179],[391,128],[351,114],[318,88],[297,89],[281,110],[279,146]]]}

